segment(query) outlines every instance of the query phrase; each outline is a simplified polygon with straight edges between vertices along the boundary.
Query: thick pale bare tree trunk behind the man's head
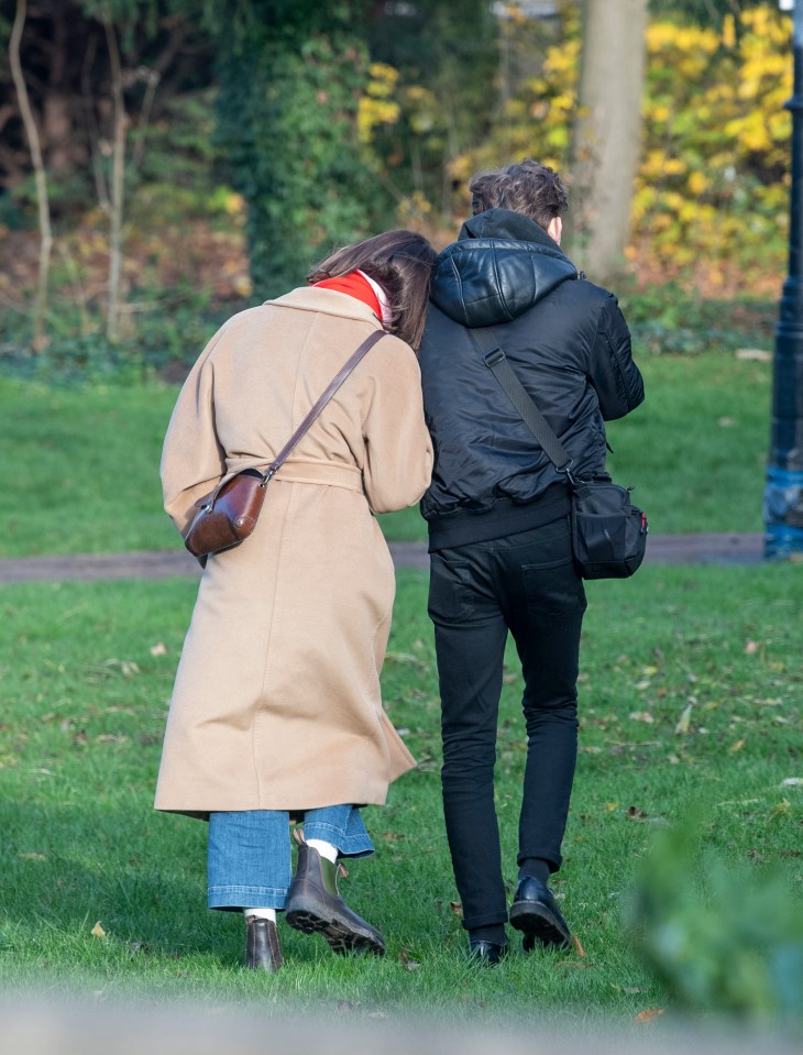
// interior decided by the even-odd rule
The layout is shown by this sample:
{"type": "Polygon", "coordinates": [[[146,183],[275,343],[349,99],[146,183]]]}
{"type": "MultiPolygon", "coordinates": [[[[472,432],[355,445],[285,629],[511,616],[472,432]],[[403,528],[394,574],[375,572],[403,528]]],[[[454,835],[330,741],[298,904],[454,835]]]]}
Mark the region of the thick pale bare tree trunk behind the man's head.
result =
{"type": "Polygon", "coordinates": [[[624,264],[639,160],[647,0],[584,0],[578,119],[572,140],[572,259],[595,282],[624,264]]]}

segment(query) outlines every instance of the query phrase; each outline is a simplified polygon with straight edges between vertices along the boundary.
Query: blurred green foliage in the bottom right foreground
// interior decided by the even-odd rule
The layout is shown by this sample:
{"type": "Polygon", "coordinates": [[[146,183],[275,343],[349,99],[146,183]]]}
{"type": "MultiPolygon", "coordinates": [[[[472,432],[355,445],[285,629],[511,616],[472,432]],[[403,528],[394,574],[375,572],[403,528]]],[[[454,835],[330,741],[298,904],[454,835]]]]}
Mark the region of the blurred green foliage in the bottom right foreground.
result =
{"type": "Polygon", "coordinates": [[[799,894],[777,869],[703,850],[696,814],[658,838],[640,869],[628,906],[638,948],[679,1007],[803,1025],[799,894]]]}

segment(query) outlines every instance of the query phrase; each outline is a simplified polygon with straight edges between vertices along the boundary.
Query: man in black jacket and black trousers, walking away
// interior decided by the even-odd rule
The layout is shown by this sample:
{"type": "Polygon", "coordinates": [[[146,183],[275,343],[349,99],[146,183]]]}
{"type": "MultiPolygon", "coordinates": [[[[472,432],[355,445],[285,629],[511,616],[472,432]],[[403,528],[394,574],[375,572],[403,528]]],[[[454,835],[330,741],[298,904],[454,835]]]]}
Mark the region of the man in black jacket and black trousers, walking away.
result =
{"type": "Polygon", "coordinates": [[[492,327],[528,394],[572,458],[605,469],[604,419],[644,399],[616,298],[560,250],[566,193],[532,161],[469,182],[474,216],[438,257],[420,365],[435,441],[421,502],[429,527],[429,615],[442,706],[443,810],[469,948],[507,952],[507,898],[494,809],[496,726],[508,631],[525,682],[527,762],[510,924],[569,945],[548,881],[561,864],[578,744],[583,583],[570,539],[570,492],[486,365],[492,327]],[[485,331],[487,334],[488,331],[485,331]],[[474,334],[476,337],[477,333],[474,334]]]}

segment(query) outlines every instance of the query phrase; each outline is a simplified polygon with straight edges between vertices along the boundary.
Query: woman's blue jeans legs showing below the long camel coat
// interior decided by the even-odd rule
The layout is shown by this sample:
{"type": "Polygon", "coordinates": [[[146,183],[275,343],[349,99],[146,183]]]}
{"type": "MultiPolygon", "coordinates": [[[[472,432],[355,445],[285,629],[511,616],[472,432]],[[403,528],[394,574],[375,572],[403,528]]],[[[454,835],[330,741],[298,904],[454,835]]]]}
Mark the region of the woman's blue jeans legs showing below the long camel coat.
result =
{"type": "MultiPolygon", "coordinates": [[[[293,878],[289,822],[285,810],[209,814],[210,909],[284,909],[293,878]]],[[[356,806],[306,810],[304,834],[332,843],[340,857],[374,851],[356,806]]]]}

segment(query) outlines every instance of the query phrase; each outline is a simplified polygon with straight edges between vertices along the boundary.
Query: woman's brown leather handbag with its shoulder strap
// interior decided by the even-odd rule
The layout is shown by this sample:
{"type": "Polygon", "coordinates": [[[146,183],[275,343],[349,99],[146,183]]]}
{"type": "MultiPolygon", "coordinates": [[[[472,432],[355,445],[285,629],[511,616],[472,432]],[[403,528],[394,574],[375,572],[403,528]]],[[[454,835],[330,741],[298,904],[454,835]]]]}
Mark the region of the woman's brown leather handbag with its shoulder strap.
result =
{"type": "Polygon", "coordinates": [[[196,502],[198,513],[184,535],[184,545],[194,557],[198,558],[201,568],[206,565],[208,557],[233,549],[251,535],[256,527],[270,480],[276,475],[290,451],[360,360],[383,337],[385,337],[383,330],[375,330],[362,342],[264,473],[261,473],[258,469],[244,469],[224,483],[218,484],[215,491],[196,502]]]}

